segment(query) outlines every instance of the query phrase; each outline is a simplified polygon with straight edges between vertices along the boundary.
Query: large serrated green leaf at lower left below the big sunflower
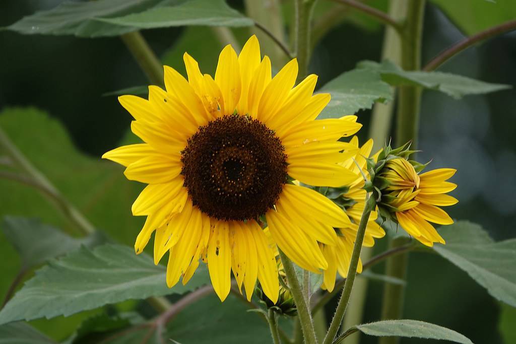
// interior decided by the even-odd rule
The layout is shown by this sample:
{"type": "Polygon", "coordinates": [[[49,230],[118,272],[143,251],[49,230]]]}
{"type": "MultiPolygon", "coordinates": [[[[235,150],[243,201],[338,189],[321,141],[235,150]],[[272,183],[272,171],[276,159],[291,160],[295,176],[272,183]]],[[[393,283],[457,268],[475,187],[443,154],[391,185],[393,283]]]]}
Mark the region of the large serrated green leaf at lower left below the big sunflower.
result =
{"type": "Polygon", "coordinates": [[[136,255],[131,248],[106,244],[91,251],[83,247],[36,271],[0,311],[0,324],[68,316],[128,299],[182,294],[206,284],[208,278],[202,265],[186,286],[178,283],[169,289],[165,281],[165,267],[155,266],[151,257],[136,255]]]}

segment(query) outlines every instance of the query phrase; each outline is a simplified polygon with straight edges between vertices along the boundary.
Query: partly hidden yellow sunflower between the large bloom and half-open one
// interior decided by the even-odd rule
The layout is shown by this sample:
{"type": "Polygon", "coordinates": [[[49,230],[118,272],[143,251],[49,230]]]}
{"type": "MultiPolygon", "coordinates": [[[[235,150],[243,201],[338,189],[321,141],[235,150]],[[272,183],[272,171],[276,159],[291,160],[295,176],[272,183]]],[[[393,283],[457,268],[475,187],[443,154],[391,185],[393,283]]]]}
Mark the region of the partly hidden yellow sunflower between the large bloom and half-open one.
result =
{"type": "MultiPolygon", "coordinates": [[[[328,291],[332,291],[335,286],[337,272],[342,277],[347,277],[351,253],[353,252],[354,241],[357,237],[358,225],[360,224],[367,196],[367,191],[364,190],[364,176],[369,178],[366,158],[369,157],[373,148],[373,140],[369,139],[360,149],[358,137],[354,136],[349,143],[351,148],[348,148],[347,152],[354,154],[340,163],[340,165],[352,171],[355,174],[355,179],[346,186],[345,192],[339,195],[337,201],[340,201],[351,222],[347,226],[336,228],[338,237],[336,246],[320,244],[322,254],[326,261],[328,261],[328,269],[323,272],[324,281],[321,287],[328,291]]],[[[375,157],[376,155],[373,158],[375,157]]],[[[372,247],[375,244],[375,238],[382,238],[385,235],[380,225],[375,222],[377,217],[377,212],[372,211],[365,230],[363,242],[365,247],[372,247]]],[[[359,260],[357,272],[362,272],[361,260],[359,260]]]]}

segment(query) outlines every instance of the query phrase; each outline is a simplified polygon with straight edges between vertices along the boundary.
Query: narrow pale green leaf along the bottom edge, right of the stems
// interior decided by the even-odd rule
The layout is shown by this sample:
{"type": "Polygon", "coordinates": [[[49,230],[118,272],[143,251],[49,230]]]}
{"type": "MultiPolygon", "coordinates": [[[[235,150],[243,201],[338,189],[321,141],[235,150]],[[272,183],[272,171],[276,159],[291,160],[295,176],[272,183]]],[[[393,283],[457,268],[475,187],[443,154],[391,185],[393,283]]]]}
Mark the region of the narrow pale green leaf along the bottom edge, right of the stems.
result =
{"type": "Polygon", "coordinates": [[[446,329],[446,327],[417,320],[404,319],[377,321],[353,326],[351,329],[358,330],[369,336],[377,337],[397,336],[408,338],[442,339],[461,344],[473,344],[470,339],[464,337],[458,332],[446,329]]]}

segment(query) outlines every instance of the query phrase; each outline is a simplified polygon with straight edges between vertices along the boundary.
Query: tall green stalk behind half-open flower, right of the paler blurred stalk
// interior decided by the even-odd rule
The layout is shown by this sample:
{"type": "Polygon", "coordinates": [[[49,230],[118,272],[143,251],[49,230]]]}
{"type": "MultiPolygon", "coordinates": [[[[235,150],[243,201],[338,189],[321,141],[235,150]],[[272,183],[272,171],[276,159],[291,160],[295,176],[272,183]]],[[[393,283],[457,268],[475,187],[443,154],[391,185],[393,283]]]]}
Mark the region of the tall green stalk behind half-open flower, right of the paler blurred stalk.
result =
{"type": "MultiPolygon", "coordinates": [[[[401,67],[414,71],[421,69],[421,41],[423,36],[423,19],[425,0],[407,0],[407,17],[401,35],[401,67]]],[[[412,141],[412,148],[417,146],[421,88],[402,86],[398,93],[398,111],[396,126],[396,144],[412,141]]],[[[406,238],[395,238],[389,243],[390,249],[407,244],[406,238]]],[[[386,275],[404,280],[407,275],[406,253],[387,260],[386,275]]],[[[385,283],[383,290],[382,319],[399,319],[402,316],[405,299],[405,287],[385,283]]],[[[380,344],[395,344],[397,337],[382,337],[380,344]]]]}

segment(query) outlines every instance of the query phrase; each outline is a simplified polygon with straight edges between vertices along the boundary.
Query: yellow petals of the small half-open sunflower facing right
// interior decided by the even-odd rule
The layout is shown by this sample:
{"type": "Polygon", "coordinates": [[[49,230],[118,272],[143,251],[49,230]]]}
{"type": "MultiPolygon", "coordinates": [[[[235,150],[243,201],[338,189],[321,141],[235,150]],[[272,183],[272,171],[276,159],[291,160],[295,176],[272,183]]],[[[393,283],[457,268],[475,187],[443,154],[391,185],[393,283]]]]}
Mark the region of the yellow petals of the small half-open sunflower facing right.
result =
{"type": "MultiPolygon", "coordinates": [[[[416,166],[424,167],[418,163],[416,166]]],[[[445,243],[430,222],[442,225],[454,222],[439,207],[458,202],[446,194],[457,187],[447,182],[455,172],[455,169],[443,168],[419,174],[411,162],[398,157],[387,161],[379,174],[387,182],[382,202],[404,230],[424,245],[445,243]]]]}

